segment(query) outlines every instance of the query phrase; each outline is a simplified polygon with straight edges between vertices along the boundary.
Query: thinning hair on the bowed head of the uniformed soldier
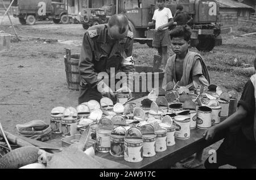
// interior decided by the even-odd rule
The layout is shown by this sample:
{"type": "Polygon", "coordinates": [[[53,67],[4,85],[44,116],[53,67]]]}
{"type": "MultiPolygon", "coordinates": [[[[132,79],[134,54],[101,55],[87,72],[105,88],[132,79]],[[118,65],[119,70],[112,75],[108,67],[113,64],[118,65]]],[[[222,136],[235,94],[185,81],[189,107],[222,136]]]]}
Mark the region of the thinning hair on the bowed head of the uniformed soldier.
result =
{"type": "Polygon", "coordinates": [[[124,14],[115,14],[109,18],[108,25],[109,27],[118,26],[119,33],[123,34],[128,28],[129,21],[124,14]]]}

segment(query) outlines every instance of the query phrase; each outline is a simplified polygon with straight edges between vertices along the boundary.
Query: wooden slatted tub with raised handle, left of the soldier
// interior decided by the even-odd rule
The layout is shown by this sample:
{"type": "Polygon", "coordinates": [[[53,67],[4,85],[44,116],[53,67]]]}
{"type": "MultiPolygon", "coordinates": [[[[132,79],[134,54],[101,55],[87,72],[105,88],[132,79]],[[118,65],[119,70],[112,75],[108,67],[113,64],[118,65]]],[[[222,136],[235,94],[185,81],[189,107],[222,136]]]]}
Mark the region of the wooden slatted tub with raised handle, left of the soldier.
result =
{"type": "Polygon", "coordinates": [[[68,89],[76,91],[80,87],[79,58],[79,54],[71,55],[70,59],[64,56],[68,89]]]}

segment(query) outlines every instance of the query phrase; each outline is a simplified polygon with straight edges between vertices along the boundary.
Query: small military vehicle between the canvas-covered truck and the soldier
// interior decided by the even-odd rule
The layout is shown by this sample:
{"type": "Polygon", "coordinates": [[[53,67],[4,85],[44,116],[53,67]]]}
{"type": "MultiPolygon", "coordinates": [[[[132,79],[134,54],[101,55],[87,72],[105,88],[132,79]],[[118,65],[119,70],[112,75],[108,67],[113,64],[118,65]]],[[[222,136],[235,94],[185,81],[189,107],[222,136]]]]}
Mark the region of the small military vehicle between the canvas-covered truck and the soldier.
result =
{"type": "Polygon", "coordinates": [[[108,23],[109,17],[102,9],[85,8],[82,10],[82,27],[87,30],[90,26],[108,23]]]}

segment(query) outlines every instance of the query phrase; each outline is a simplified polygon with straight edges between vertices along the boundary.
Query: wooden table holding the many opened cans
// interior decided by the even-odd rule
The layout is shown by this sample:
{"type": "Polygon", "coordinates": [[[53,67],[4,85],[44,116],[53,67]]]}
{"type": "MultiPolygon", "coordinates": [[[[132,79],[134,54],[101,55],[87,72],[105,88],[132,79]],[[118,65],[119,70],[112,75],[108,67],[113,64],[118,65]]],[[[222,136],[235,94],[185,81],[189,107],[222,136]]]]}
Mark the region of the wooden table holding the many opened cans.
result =
{"type": "MultiPolygon", "coordinates": [[[[136,103],[137,107],[139,107],[141,106],[142,100],[143,98],[136,99],[133,101],[133,103],[136,103]]],[[[216,135],[212,141],[206,141],[203,137],[204,132],[205,130],[203,129],[192,129],[190,139],[175,139],[176,144],[174,146],[167,146],[166,151],[157,152],[154,157],[144,157],[141,162],[127,162],[123,157],[113,157],[109,153],[96,152],[96,156],[119,162],[120,164],[127,165],[132,169],[170,168],[171,165],[174,165],[176,162],[179,162],[197,151],[202,150],[224,138],[224,133],[218,133],[218,135],[216,135]]]]}

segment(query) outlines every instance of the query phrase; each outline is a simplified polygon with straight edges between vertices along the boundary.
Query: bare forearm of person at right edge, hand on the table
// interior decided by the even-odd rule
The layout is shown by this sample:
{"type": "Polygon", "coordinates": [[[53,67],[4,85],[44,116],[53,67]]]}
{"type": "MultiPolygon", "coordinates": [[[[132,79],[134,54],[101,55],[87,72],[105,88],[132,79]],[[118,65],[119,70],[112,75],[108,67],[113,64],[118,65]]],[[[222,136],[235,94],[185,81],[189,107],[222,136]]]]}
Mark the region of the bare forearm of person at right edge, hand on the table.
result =
{"type": "Polygon", "coordinates": [[[245,119],[247,116],[247,111],[243,106],[238,107],[238,111],[235,112],[233,115],[229,116],[226,120],[221,122],[220,124],[214,125],[213,127],[209,128],[205,133],[205,140],[211,140],[216,135],[218,131],[222,131],[226,128],[232,127],[233,125],[239,124],[245,119]]]}

